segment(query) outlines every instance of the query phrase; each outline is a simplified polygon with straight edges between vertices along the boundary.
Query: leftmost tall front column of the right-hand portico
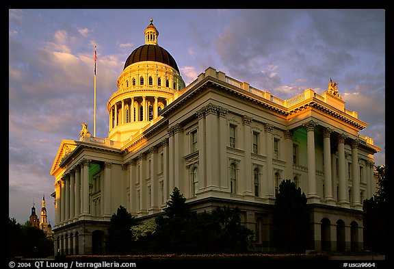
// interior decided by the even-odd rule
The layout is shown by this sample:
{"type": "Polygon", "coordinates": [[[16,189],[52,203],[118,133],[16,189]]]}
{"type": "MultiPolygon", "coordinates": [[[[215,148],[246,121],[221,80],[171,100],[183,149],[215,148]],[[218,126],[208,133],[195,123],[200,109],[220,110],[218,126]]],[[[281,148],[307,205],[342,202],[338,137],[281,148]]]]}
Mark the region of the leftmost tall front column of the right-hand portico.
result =
{"type": "Polygon", "coordinates": [[[317,203],[316,198],[316,160],[315,160],[315,126],[316,123],[310,120],[304,124],[307,135],[307,149],[308,149],[308,203],[317,203]]]}

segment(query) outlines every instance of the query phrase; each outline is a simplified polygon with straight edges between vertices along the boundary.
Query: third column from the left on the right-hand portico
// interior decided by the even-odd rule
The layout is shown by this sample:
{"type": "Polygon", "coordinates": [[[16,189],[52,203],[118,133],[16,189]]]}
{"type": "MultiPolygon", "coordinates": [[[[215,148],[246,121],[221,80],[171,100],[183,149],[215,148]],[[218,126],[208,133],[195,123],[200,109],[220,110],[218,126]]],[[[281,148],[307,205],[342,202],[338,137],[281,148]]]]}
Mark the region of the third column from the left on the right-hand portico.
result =
{"type": "Polygon", "coordinates": [[[349,207],[345,167],[345,138],[343,133],[338,136],[338,204],[341,207],[349,207]]]}

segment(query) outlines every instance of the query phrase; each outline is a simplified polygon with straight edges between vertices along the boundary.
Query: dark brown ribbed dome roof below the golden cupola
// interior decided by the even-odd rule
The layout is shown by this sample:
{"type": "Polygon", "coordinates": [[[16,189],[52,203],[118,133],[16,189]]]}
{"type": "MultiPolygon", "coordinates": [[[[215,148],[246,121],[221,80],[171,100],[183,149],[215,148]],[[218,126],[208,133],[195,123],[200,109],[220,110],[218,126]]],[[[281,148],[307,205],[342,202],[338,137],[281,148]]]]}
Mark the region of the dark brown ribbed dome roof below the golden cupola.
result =
{"type": "Polygon", "coordinates": [[[171,54],[157,44],[144,44],[140,47],[137,47],[137,49],[135,49],[129,55],[129,57],[127,57],[123,70],[130,64],[144,61],[161,62],[163,64],[167,64],[179,73],[178,65],[176,65],[176,62],[171,54]]]}

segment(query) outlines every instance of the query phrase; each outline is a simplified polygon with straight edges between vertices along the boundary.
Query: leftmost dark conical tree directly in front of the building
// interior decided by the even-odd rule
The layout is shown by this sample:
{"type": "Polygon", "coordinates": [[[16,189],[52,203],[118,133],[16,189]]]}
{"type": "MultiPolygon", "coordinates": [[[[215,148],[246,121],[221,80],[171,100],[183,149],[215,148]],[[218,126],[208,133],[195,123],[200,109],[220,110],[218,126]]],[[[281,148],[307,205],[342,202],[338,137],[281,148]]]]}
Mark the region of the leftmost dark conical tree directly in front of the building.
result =
{"type": "Polygon", "coordinates": [[[127,209],[118,208],[116,214],[111,216],[107,235],[107,253],[109,254],[129,254],[133,249],[133,233],[131,226],[135,225],[135,218],[131,216],[127,209]]]}

